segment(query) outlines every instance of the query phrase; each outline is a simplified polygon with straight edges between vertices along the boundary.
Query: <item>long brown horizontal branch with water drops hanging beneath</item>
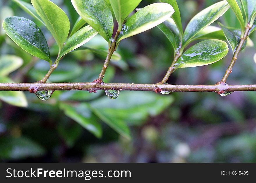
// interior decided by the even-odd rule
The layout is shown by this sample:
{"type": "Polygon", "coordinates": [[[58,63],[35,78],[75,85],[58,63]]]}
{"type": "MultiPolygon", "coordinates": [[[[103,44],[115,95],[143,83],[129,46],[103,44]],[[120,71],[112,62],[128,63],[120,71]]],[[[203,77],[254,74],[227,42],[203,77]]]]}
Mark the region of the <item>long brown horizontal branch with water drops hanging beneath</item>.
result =
{"type": "Polygon", "coordinates": [[[171,92],[216,92],[218,94],[234,91],[256,91],[256,85],[167,85],[167,84],[117,84],[117,83],[0,83],[0,91],[30,91],[35,93],[42,90],[133,90],[133,91],[161,91],[171,92]]]}

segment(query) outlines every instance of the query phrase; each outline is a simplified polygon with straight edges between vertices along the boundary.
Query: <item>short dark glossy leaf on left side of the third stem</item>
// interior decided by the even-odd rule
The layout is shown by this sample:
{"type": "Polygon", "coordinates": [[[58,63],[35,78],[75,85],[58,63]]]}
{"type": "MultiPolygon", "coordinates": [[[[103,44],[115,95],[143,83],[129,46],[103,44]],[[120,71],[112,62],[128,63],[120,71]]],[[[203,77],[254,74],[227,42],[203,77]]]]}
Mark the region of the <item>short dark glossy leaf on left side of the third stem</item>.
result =
{"type": "Polygon", "coordinates": [[[168,18],[157,26],[173,45],[174,50],[179,46],[179,30],[172,18],[168,18]]]}

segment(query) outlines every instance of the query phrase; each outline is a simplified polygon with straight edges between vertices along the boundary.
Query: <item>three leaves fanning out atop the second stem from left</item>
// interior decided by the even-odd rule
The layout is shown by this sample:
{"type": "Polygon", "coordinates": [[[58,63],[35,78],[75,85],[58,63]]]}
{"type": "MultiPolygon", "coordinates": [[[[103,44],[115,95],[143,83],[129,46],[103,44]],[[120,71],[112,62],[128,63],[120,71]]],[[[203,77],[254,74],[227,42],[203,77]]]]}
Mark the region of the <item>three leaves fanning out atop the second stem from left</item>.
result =
{"type": "MultiPolygon", "coordinates": [[[[71,2],[78,14],[110,45],[113,34],[113,17],[108,3],[105,0],[71,0],[71,2]]],[[[118,29],[121,30],[125,18],[136,8],[140,1],[115,0],[110,1],[110,3],[119,24],[118,29]]],[[[167,3],[154,3],[142,8],[123,25],[117,42],[159,25],[168,19],[173,12],[173,7],[167,3]]]]}

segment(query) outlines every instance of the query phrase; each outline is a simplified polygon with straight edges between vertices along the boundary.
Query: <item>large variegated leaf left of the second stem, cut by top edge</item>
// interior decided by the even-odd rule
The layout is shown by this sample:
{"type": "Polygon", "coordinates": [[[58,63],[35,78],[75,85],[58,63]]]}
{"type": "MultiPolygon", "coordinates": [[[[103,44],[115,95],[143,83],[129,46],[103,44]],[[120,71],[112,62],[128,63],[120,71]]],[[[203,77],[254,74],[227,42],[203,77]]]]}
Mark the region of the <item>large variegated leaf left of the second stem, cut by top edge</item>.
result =
{"type": "Polygon", "coordinates": [[[77,13],[106,41],[111,43],[113,16],[105,0],[71,0],[77,13]]]}

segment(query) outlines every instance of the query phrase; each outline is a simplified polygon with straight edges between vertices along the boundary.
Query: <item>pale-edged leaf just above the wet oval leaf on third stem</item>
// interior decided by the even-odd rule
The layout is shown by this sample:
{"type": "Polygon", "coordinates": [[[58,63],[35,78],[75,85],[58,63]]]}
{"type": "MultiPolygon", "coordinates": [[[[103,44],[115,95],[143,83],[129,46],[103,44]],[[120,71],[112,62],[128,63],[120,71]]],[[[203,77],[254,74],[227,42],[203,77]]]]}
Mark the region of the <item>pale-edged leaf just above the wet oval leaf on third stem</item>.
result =
{"type": "Polygon", "coordinates": [[[198,34],[195,35],[195,37],[193,37],[191,41],[198,39],[220,39],[225,41],[226,37],[221,28],[216,26],[207,26],[206,28],[198,32],[198,34]]]}

